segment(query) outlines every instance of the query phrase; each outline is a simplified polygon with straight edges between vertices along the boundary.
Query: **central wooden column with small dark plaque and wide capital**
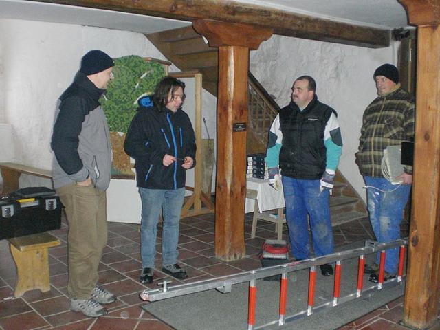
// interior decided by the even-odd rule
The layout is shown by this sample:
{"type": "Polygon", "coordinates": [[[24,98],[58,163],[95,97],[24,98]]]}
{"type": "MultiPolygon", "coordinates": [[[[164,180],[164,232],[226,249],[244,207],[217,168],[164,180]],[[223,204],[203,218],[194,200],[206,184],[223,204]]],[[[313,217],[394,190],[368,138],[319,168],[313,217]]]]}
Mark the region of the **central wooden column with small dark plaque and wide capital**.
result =
{"type": "Polygon", "coordinates": [[[192,25],[211,47],[219,47],[215,255],[232,261],[245,255],[249,50],[269,39],[272,30],[204,19],[192,25]]]}

